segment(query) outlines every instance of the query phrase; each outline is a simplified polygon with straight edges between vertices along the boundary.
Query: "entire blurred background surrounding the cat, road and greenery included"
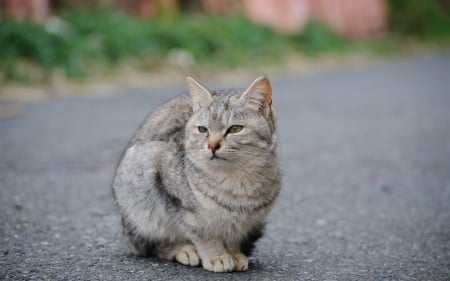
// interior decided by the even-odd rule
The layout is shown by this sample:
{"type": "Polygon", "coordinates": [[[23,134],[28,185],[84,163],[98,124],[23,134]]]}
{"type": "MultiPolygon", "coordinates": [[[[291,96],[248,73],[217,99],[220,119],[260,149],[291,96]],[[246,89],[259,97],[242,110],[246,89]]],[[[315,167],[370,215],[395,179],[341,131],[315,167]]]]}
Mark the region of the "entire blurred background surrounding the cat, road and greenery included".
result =
{"type": "Polygon", "coordinates": [[[0,0],[0,280],[217,278],[125,255],[111,195],[186,74],[267,74],[278,113],[279,202],[218,278],[450,280],[449,47],[450,0],[0,0]]]}

